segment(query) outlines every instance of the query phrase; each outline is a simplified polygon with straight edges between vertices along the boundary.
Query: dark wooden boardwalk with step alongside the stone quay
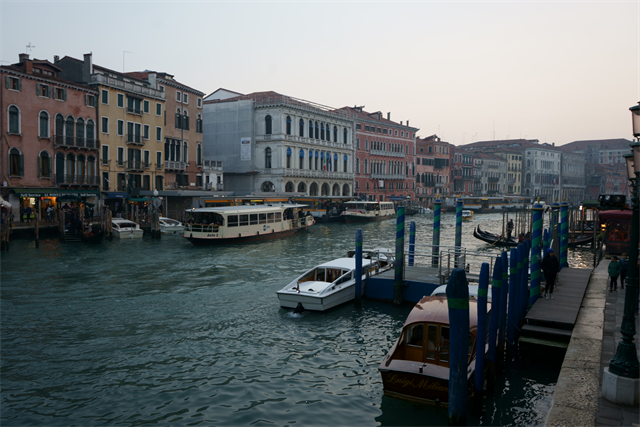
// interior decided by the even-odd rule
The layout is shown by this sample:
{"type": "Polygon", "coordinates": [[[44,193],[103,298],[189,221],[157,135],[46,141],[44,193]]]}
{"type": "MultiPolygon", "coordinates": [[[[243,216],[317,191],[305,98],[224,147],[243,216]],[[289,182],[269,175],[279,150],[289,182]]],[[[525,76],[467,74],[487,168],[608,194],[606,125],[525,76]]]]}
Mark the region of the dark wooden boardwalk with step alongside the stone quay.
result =
{"type": "Polygon", "coordinates": [[[519,341],[566,348],[592,271],[590,268],[563,268],[558,274],[554,298],[541,297],[533,304],[525,316],[519,341]]]}

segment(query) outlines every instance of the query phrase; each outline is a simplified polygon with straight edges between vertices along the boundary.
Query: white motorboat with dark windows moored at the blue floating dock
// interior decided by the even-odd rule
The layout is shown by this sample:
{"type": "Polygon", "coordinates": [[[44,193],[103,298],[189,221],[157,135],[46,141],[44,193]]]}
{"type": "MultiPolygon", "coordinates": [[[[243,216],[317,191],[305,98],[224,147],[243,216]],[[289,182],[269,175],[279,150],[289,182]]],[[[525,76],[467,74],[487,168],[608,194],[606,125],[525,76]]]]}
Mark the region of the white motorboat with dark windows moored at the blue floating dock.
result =
{"type": "MultiPolygon", "coordinates": [[[[372,257],[373,258],[373,257],[372,257]]],[[[362,259],[362,280],[391,268],[375,259],[362,259]]],[[[356,259],[338,258],[320,264],[276,292],[280,306],[325,311],[356,297],[356,259]]]]}

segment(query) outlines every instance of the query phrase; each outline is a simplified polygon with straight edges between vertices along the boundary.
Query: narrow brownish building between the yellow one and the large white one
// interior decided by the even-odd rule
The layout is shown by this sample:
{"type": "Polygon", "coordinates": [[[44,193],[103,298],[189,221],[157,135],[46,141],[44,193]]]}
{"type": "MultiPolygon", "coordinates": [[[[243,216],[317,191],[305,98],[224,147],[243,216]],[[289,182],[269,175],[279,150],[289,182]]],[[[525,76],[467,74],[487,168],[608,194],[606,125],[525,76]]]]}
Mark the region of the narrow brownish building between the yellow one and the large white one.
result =
{"type": "Polygon", "coordinates": [[[165,72],[131,72],[127,76],[149,82],[164,92],[164,110],[156,104],[154,114],[166,117],[164,126],[164,179],[170,189],[217,189],[221,174],[205,166],[202,156],[202,100],[204,92],[193,89],[165,72]],[[155,81],[153,78],[155,76],[155,81]],[[208,184],[208,185],[207,185],[208,184]]]}

